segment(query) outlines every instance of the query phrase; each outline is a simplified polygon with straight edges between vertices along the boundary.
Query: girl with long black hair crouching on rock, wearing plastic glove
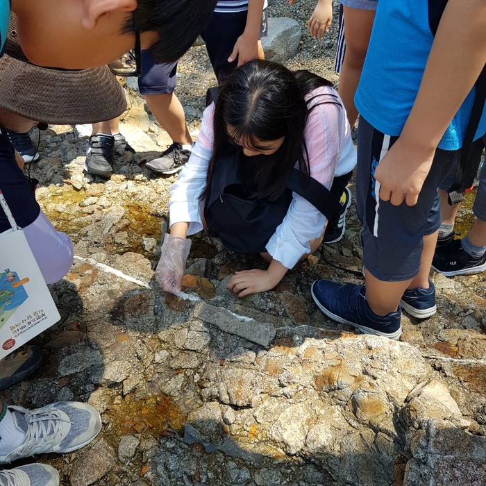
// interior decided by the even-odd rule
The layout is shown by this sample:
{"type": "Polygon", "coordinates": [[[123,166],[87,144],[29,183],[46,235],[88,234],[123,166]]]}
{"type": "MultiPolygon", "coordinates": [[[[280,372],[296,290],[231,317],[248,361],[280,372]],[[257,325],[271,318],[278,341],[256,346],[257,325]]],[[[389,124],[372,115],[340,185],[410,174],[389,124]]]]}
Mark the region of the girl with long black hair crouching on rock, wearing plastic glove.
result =
{"type": "Polygon", "coordinates": [[[156,269],[162,289],[181,292],[187,235],[203,228],[229,249],[269,262],[267,270],[237,271],[233,293],[274,288],[321,244],[324,214],[341,209],[339,176],[355,163],[346,111],[329,81],[264,60],[242,65],[206,108],[171,188],[171,233],[156,269]]]}

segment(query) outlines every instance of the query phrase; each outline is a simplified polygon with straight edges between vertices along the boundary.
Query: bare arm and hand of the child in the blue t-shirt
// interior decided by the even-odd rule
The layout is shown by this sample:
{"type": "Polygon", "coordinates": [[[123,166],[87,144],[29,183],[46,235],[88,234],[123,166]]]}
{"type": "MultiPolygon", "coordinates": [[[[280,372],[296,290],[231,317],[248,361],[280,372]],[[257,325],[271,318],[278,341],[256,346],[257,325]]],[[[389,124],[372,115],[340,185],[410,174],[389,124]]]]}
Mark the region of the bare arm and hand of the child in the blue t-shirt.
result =
{"type": "Polygon", "coordinates": [[[485,66],[485,31],[484,0],[449,0],[417,99],[399,139],[376,168],[383,201],[417,203],[435,149],[485,66]]]}

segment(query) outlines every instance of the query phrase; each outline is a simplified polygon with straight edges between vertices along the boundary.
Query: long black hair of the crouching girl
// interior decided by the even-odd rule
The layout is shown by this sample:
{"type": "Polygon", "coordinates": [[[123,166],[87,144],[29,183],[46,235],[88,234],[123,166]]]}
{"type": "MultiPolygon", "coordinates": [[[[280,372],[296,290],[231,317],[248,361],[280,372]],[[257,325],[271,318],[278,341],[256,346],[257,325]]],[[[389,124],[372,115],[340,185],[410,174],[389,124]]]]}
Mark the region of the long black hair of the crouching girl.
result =
{"type": "Polygon", "coordinates": [[[315,97],[307,100],[304,97],[321,86],[332,86],[332,83],[307,70],[291,72],[283,65],[266,60],[252,60],[235,69],[219,89],[214,150],[201,198],[208,196],[216,160],[227,149],[228,142],[244,141],[249,148],[258,150],[261,141],[285,137],[278,152],[265,156],[264,162],[254,166],[259,197],[278,199],[295,162],[299,162],[303,178],[308,178],[305,125],[310,111],[321,103],[312,103],[315,97]]]}

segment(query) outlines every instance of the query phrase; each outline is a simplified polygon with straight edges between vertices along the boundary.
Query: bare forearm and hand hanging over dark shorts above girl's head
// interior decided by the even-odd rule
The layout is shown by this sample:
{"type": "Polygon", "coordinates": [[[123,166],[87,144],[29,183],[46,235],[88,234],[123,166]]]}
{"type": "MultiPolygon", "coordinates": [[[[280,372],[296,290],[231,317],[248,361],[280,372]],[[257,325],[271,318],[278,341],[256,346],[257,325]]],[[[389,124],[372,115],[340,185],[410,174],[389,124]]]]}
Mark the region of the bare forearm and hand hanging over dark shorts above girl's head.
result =
{"type": "Polygon", "coordinates": [[[238,66],[258,58],[258,37],[262,25],[262,12],[265,0],[249,0],[246,26],[238,37],[228,62],[238,58],[238,66]]]}

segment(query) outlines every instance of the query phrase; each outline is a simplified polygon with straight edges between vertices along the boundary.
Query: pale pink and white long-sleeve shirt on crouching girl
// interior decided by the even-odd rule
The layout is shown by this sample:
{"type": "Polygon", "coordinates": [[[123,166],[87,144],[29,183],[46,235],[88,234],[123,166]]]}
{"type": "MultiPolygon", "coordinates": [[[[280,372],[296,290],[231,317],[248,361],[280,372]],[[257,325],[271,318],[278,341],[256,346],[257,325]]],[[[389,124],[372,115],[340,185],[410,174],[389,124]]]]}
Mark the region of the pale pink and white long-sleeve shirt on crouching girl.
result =
{"type": "MultiPolygon", "coordinates": [[[[337,96],[332,87],[326,86],[312,91],[307,98],[317,94],[337,96]]],[[[328,100],[317,97],[311,101],[309,108],[320,101],[328,100]]],[[[212,103],[204,111],[201,133],[192,149],[192,155],[171,187],[170,224],[188,222],[187,235],[203,229],[203,202],[199,197],[206,187],[208,165],[214,149],[214,113],[215,105],[212,103]]],[[[308,117],[304,140],[309,156],[310,176],[328,189],[334,176],[347,174],[355,167],[356,151],[344,106],[335,103],[316,106],[308,117]]],[[[296,168],[299,168],[297,162],[296,168]]],[[[310,252],[309,242],[323,233],[325,225],[326,217],[310,202],[293,192],[287,215],[267,243],[267,251],[272,258],[291,269],[304,253],[310,252]]]]}

